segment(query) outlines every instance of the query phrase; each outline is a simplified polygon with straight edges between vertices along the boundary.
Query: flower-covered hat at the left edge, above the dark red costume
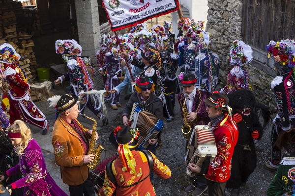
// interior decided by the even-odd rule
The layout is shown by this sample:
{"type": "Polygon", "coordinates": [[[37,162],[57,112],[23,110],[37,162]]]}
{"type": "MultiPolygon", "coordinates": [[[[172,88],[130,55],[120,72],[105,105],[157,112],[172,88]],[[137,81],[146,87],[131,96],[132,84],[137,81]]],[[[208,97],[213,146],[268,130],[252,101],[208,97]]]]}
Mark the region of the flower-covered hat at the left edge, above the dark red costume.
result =
{"type": "Polygon", "coordinates": [[[15,64],[20,60],[21,56],[15,51],[15,49],[7,43],[0,46],[0,62],[6,64],[15,64]]]}

